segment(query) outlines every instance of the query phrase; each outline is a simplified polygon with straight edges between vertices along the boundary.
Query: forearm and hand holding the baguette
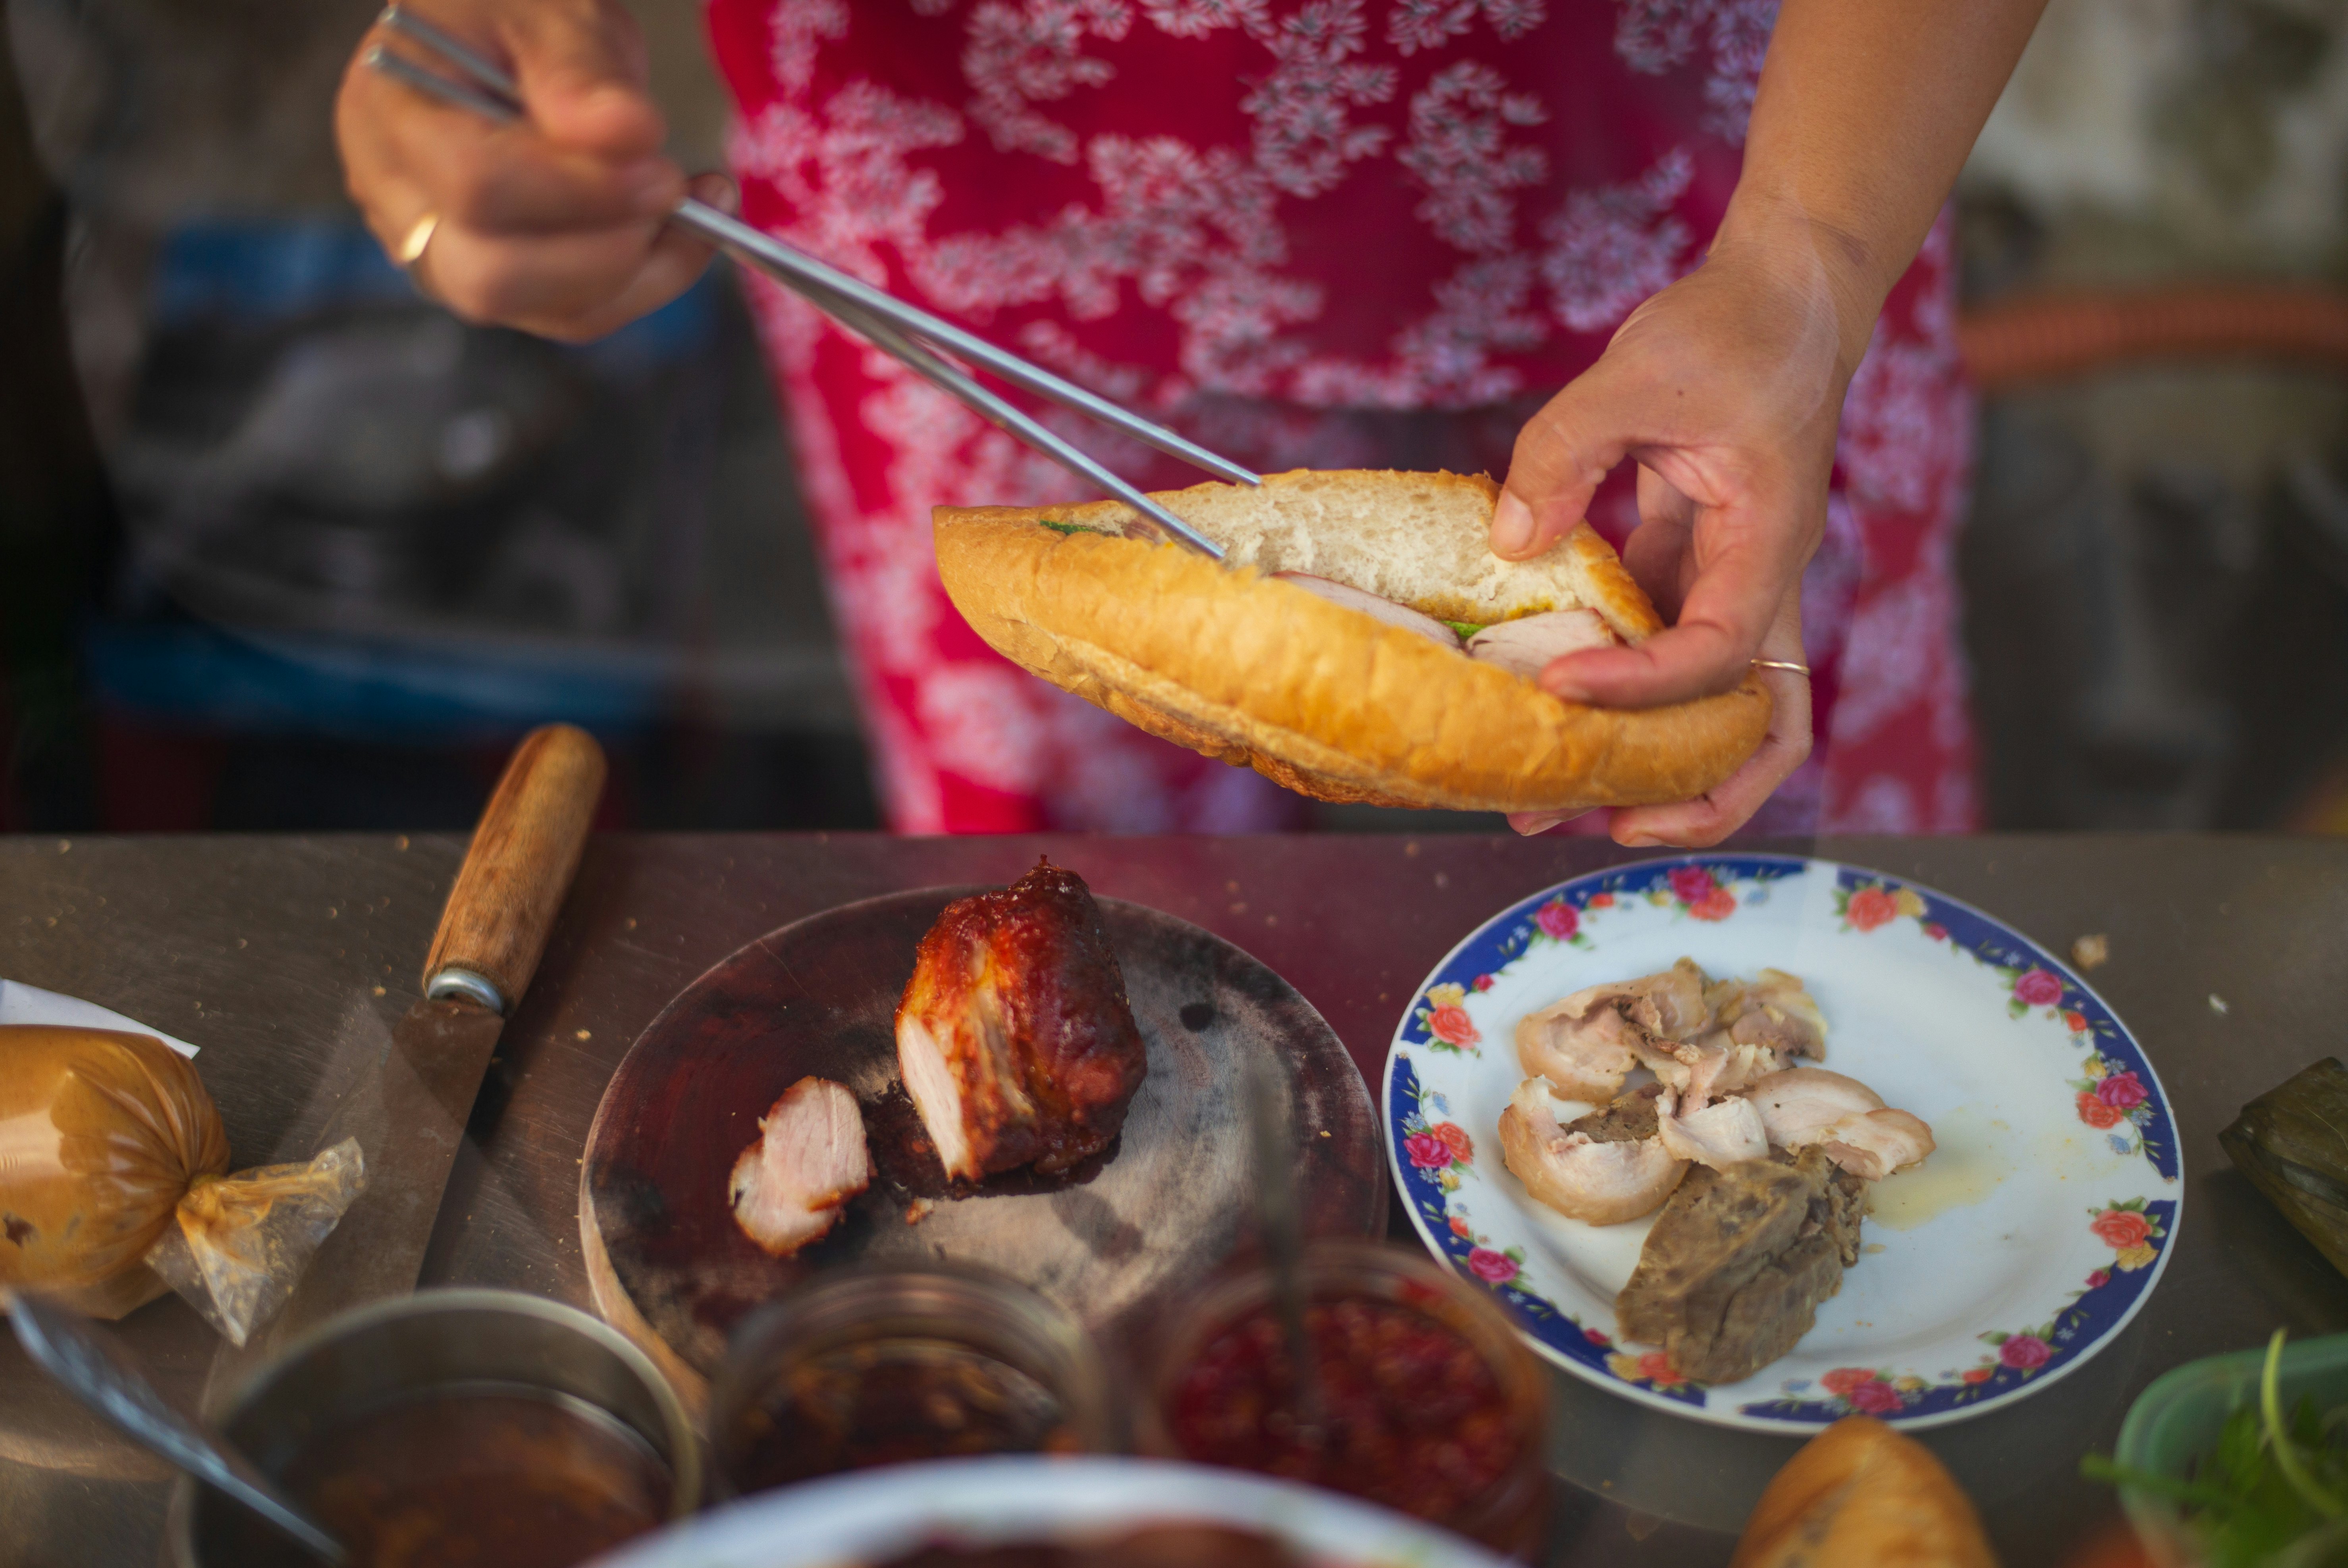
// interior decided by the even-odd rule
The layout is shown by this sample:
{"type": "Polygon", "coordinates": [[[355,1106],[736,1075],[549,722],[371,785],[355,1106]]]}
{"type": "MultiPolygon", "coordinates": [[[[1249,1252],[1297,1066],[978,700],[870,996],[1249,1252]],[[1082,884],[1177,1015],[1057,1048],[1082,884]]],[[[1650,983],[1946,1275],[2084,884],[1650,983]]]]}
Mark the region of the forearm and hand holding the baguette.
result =
{"type": "MultiPolygon", "coordinates": [[[[1843,390],[2043,7],[1782,0],[1705,263],[1634,310],[1517,441],[1493,552],[1540,554],[1630,458],[1641,526],[1625,561],[1674,622],[1559,660],[1552,692],[1655,707],[1728,690],[1756,657],[1801,662],[1801,568],[1827,521],[1843,390]]],[[[1698,800],[1618,815],[1620,843],[1716,843],[1801,765],[1806,681],[1763,683],[1777,711],[1752,761],[1698,800]]]]}

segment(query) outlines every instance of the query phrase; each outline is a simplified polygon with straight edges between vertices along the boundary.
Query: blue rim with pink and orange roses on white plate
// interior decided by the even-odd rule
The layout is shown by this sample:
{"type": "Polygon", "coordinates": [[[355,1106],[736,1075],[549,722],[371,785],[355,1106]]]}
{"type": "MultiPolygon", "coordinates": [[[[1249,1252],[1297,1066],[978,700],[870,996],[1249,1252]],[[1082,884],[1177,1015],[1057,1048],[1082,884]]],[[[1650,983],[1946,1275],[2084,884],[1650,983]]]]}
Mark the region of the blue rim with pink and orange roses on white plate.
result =
{"type": "MultiPolygon", "coordinates": [[[[1489,1171],[1477,1164],[1465,1117],[1451,1113],[1442,1091],[1423,1087],[1411,1054],[1432,1052],[1428,1059],[1432,1077],[1463,1070],[1437,1073],[1442,1061],[1482,1056],[1477,1049],[1482,1040],[1489,1033],[1505,1033],[1507,1019],[1475,1012],[1477,998],[1510,979],[1526,958],[1538,955],[1540,962],[1554,965],[1566,951],[1604,953],[1615,920],[1637,925],[1637,918],[1644,918],[1641,941],[1653,941],[1655,913],[1669,920],[1733,922],[1740,911],[1770,904],[1777,883],[1813,873],[1836,878],[1829,920],[1846,937],[1871,944],[1890,939],[1897,922],[1914,920],[1914,930],[1928,941],[1942,944],[1949,953],[1965,953],[1972,965],[1996,976],[2008,1016],[2059,1021],[2054,1038],[2085,1049],[2087,1066],[2073,1068],[2085,1073],[2080,1080],[2057,1068],[2052,1082],[2071,1084],[2069,1091],[2078,1096],[2078,1120],[2106,1134],[2116,1155],[2141,1157],[2146,1174],[2177,1192],[2170,1113],[2137,1042],[2062,962],[1979,911],[1883,873],[1792,857],[1707,854],[1576,878],[1489,920],[1430,976],[1430,986],[1404,1016],[1388,1059],[1390,1153],[1421,1235],[1456,1272],[1505,1303],[1545,1354],[1646,1401],[1707,1411],[1707,1401],[1709,1408],[1721,1408],[1721,1390],[1681,1378],[1653,1345],[1618,1345],[1604,1310],[1580,1305],[1573,1312],[1564,1310],[1545,1293],[1550,1286],[1536,1284],[1536,1275],[1529,1272],[1540,1256],[1529,1261],[1524,1246],[1510,1244],[1512,1237],[1496,1239],[1475,1223],[1470,1207],[1500,1202],[1514,1209],[1519,1199],[1491,1188],[1498,1162],[1493,1160],[1489,1171]]],[[[1799,897],[1794,908],[1801,908],[1799,897]]],[[[1571,962],[1576,967],[1568,974],[1594,974],[1580,958],[1571,962]]],[[[1547,979],[1552,969],[1538,974],[1547,979]]],[[[1456,1087],[1465,1080],[1451,1082],[1456,1087]]],[[[2066,1103],[2066,1120],[2071,1113],[2073,1106],[2066,1103]]],[[[2177,1197],[2155,1195],[2123,1197],[2090,1211],[2087,1228],[2097,1246],[2111,1249],[2111,1265],[2094,1268],[2085,1277],[2071,1275],[2083,1282],[2054,1293],[2047,1303],[2057,1307],[2052,1319],[2022,1326],[2008,1319],[1982,1331],[1977,1364],[1963,1364],[1958,1352],[1956,1366],[1841,1366],[1789,1378],[1775,1399],[1752,1399],[1745,1390],[1735,1390],[1738,1399],[1721,1418],[1733,1418],[1730,1425],[1775,1430],[1820,1427],[1850,1413],[1930,1422],[2059,1376],[2132,1317],[2158,1275],[2174,1216],[2177,1197]]],[[[1944,1345],[1946,1350],[1951,1347],[1944,1345]]]]}

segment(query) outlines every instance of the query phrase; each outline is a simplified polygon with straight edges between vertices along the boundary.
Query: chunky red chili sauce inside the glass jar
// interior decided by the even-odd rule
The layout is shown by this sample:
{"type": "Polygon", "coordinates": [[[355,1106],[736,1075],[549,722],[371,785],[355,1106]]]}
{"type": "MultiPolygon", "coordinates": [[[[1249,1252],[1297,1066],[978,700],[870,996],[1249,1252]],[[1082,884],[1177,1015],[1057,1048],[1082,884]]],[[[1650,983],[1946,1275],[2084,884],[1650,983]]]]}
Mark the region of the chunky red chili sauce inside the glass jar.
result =
{"type": "Polygon", "coordinates": [[[1507,1476],[1524,1451],[1491,1366],[1449,1324],[1392,1300],[1305,1307],[1327,1420],[1296,1420],[1280,1317],[1266,1307],[1216,1331],[1167,1394],[1181,1451],[1207,1465],[1289,1476],[1451,1519],[1507,1476]]]}

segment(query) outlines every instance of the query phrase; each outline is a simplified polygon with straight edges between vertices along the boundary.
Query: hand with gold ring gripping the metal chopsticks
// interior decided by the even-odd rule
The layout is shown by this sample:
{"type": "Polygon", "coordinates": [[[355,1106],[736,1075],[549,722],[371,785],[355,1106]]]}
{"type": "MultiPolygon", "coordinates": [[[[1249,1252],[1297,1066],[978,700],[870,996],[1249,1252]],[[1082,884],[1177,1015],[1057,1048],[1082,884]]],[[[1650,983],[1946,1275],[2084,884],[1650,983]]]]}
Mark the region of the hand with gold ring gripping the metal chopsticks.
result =
{"type": "MultiPolygon", "coordinates": [[[[409,263],[420,289],[467,322],[582,340],[700,277],[709,246],[664,225],[688,181],[660,153],[643,40],[615,0],[427,0],[418,14],[512,70],[528,108],[498,124],[441,103],[359,56],[380,42],[448,66],[380,26],[362,40],[333,106],[343,171],[385,251],[430,235],[409,263]]],[[[723,174],[690,190],[735,204],[723,174]]]]}

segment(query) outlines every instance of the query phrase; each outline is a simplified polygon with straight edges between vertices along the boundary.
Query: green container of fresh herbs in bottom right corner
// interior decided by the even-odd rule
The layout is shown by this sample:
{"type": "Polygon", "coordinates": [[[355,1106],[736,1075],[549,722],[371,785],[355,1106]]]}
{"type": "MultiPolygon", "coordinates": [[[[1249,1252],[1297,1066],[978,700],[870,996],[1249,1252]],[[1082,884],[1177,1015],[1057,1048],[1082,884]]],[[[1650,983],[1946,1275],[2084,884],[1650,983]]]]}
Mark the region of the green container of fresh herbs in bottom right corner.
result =
{"type": "Polygon", "coordinates": [[[2259,1401],[2233,1411],[2191,1479],[2151,1474],[2090,1453],[2078,1469],[2170,1498],[2207,1568],[2348,1566],[2348,1406],[2301,1399],[2285,1420],[2278,1394],[2282,1329],[2266,1345],[2259,1401]]]}

